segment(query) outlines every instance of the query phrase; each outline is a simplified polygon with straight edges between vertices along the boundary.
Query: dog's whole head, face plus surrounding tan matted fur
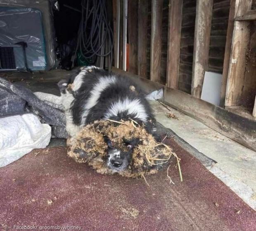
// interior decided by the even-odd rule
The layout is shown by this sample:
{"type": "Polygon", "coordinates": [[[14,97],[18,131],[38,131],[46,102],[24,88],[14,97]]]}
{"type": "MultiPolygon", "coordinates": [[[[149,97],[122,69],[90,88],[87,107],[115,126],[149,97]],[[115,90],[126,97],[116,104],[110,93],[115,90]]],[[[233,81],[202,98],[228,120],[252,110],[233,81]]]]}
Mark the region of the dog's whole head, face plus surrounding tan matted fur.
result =
{"type": "Polygon", "coordinates": [[[68,155],[102,174],[139,174],[154,168],[148,157],[161,157],[161,148],[156,147],[154,136],[144,124],[102,120],[81,129],[68,155]]]}

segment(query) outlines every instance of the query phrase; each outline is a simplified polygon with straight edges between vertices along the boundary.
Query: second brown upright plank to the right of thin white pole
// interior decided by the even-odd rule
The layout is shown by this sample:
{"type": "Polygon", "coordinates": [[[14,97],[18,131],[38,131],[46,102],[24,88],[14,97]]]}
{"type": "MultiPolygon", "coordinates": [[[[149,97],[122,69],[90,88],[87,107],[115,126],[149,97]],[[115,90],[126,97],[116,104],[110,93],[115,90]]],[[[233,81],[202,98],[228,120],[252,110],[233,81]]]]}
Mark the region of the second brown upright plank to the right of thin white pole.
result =
{"type": "Polygon", "coordinates": [[[147,14],[148,0],[138,0],[138,51],[137,65],[138,75],[147,77],[147,14]]]}

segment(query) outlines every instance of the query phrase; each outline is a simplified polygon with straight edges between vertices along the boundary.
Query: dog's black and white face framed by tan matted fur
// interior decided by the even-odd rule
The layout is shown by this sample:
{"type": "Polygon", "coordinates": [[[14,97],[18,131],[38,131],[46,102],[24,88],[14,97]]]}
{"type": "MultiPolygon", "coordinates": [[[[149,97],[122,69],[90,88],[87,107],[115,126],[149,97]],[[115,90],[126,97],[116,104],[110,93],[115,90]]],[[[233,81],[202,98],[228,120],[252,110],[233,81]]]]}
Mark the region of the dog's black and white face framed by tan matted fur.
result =
{"type": "Polygon", "coordinates": [[[106,165],[113,172],[121,172],[128,168],[130,162],[132,161],[133,149],[140,142],[138,138],[133,140],[125,140],[123,138],[122,146],[115,147],[115,142],[109,140],[105,137],[105,142],[107,142],[107,156],[106,165]]]}

